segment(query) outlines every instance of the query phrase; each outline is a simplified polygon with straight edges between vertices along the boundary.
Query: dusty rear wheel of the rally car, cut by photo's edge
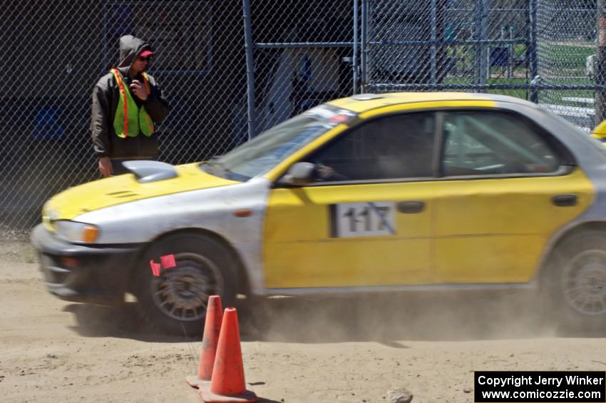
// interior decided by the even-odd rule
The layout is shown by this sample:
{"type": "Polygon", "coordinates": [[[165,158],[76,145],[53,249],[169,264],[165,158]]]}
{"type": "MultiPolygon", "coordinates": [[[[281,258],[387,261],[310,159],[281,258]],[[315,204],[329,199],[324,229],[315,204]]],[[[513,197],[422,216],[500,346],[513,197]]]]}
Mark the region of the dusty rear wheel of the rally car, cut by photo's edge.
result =
{"type": "Polygon", "coordinates": [[[606,234],[574,235],[554,250],[543,276],[550,313],[565,330],[606,327],[606,234]]]}

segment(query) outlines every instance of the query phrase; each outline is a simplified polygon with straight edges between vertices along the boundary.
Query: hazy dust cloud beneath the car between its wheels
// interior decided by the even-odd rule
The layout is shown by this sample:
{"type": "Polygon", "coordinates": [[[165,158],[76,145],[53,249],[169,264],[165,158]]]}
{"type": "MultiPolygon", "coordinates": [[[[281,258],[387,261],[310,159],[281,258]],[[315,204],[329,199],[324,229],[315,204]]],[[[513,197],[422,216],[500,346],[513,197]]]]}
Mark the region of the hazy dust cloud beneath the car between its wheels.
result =
{"type": "Polygon", "coordinates": [[[272,297],[247,310],[245,332],[272,342],[499,340],[562,330],[528,292],[407,292],[272,297]]]}

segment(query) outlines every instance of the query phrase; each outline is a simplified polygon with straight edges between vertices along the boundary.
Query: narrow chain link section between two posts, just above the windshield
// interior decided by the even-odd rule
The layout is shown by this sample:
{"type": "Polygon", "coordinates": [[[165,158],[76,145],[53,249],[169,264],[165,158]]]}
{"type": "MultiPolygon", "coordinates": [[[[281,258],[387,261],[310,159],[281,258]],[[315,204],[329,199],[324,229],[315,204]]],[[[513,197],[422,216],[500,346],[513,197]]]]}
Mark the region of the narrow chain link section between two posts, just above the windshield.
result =
{"type": "Polygon", "coordinates": [[[328,99],[353,93],[351,0],[248,4],[255,71],[251,136],[328,99]]]}

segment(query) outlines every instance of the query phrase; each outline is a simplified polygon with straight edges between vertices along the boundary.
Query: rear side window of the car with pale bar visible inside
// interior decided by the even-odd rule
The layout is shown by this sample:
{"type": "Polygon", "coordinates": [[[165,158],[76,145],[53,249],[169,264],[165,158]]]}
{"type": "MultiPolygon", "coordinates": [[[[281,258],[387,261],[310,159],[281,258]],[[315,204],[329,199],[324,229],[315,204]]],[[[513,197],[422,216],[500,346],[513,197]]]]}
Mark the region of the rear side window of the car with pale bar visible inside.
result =
{"type": "Polygon", "coordinates": [[[560,158],[540,128],[500,111],[443,113],[445,176],[551,173],[560,158]]]}

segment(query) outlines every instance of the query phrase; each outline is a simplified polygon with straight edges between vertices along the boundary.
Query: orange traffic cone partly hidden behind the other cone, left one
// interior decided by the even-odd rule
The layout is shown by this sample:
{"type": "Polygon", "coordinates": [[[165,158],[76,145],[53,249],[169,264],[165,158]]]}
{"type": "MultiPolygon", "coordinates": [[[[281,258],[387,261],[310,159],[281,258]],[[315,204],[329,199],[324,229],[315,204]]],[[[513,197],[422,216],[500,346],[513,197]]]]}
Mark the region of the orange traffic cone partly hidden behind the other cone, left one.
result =
{"type": "Polygon", "coordinates": [[[204,336],[202,337],[202,352],[200,352],[200,365],[197,369],[197,377],[185,378],[190,387],[200,387],[202,383],[209,383],[212,375],[212,366],[215,364],[215,353],[219,342],[219,332],[223,318],[221,297],[211,295],[206,308],[206,319],[204,322],[204,336]]]}

